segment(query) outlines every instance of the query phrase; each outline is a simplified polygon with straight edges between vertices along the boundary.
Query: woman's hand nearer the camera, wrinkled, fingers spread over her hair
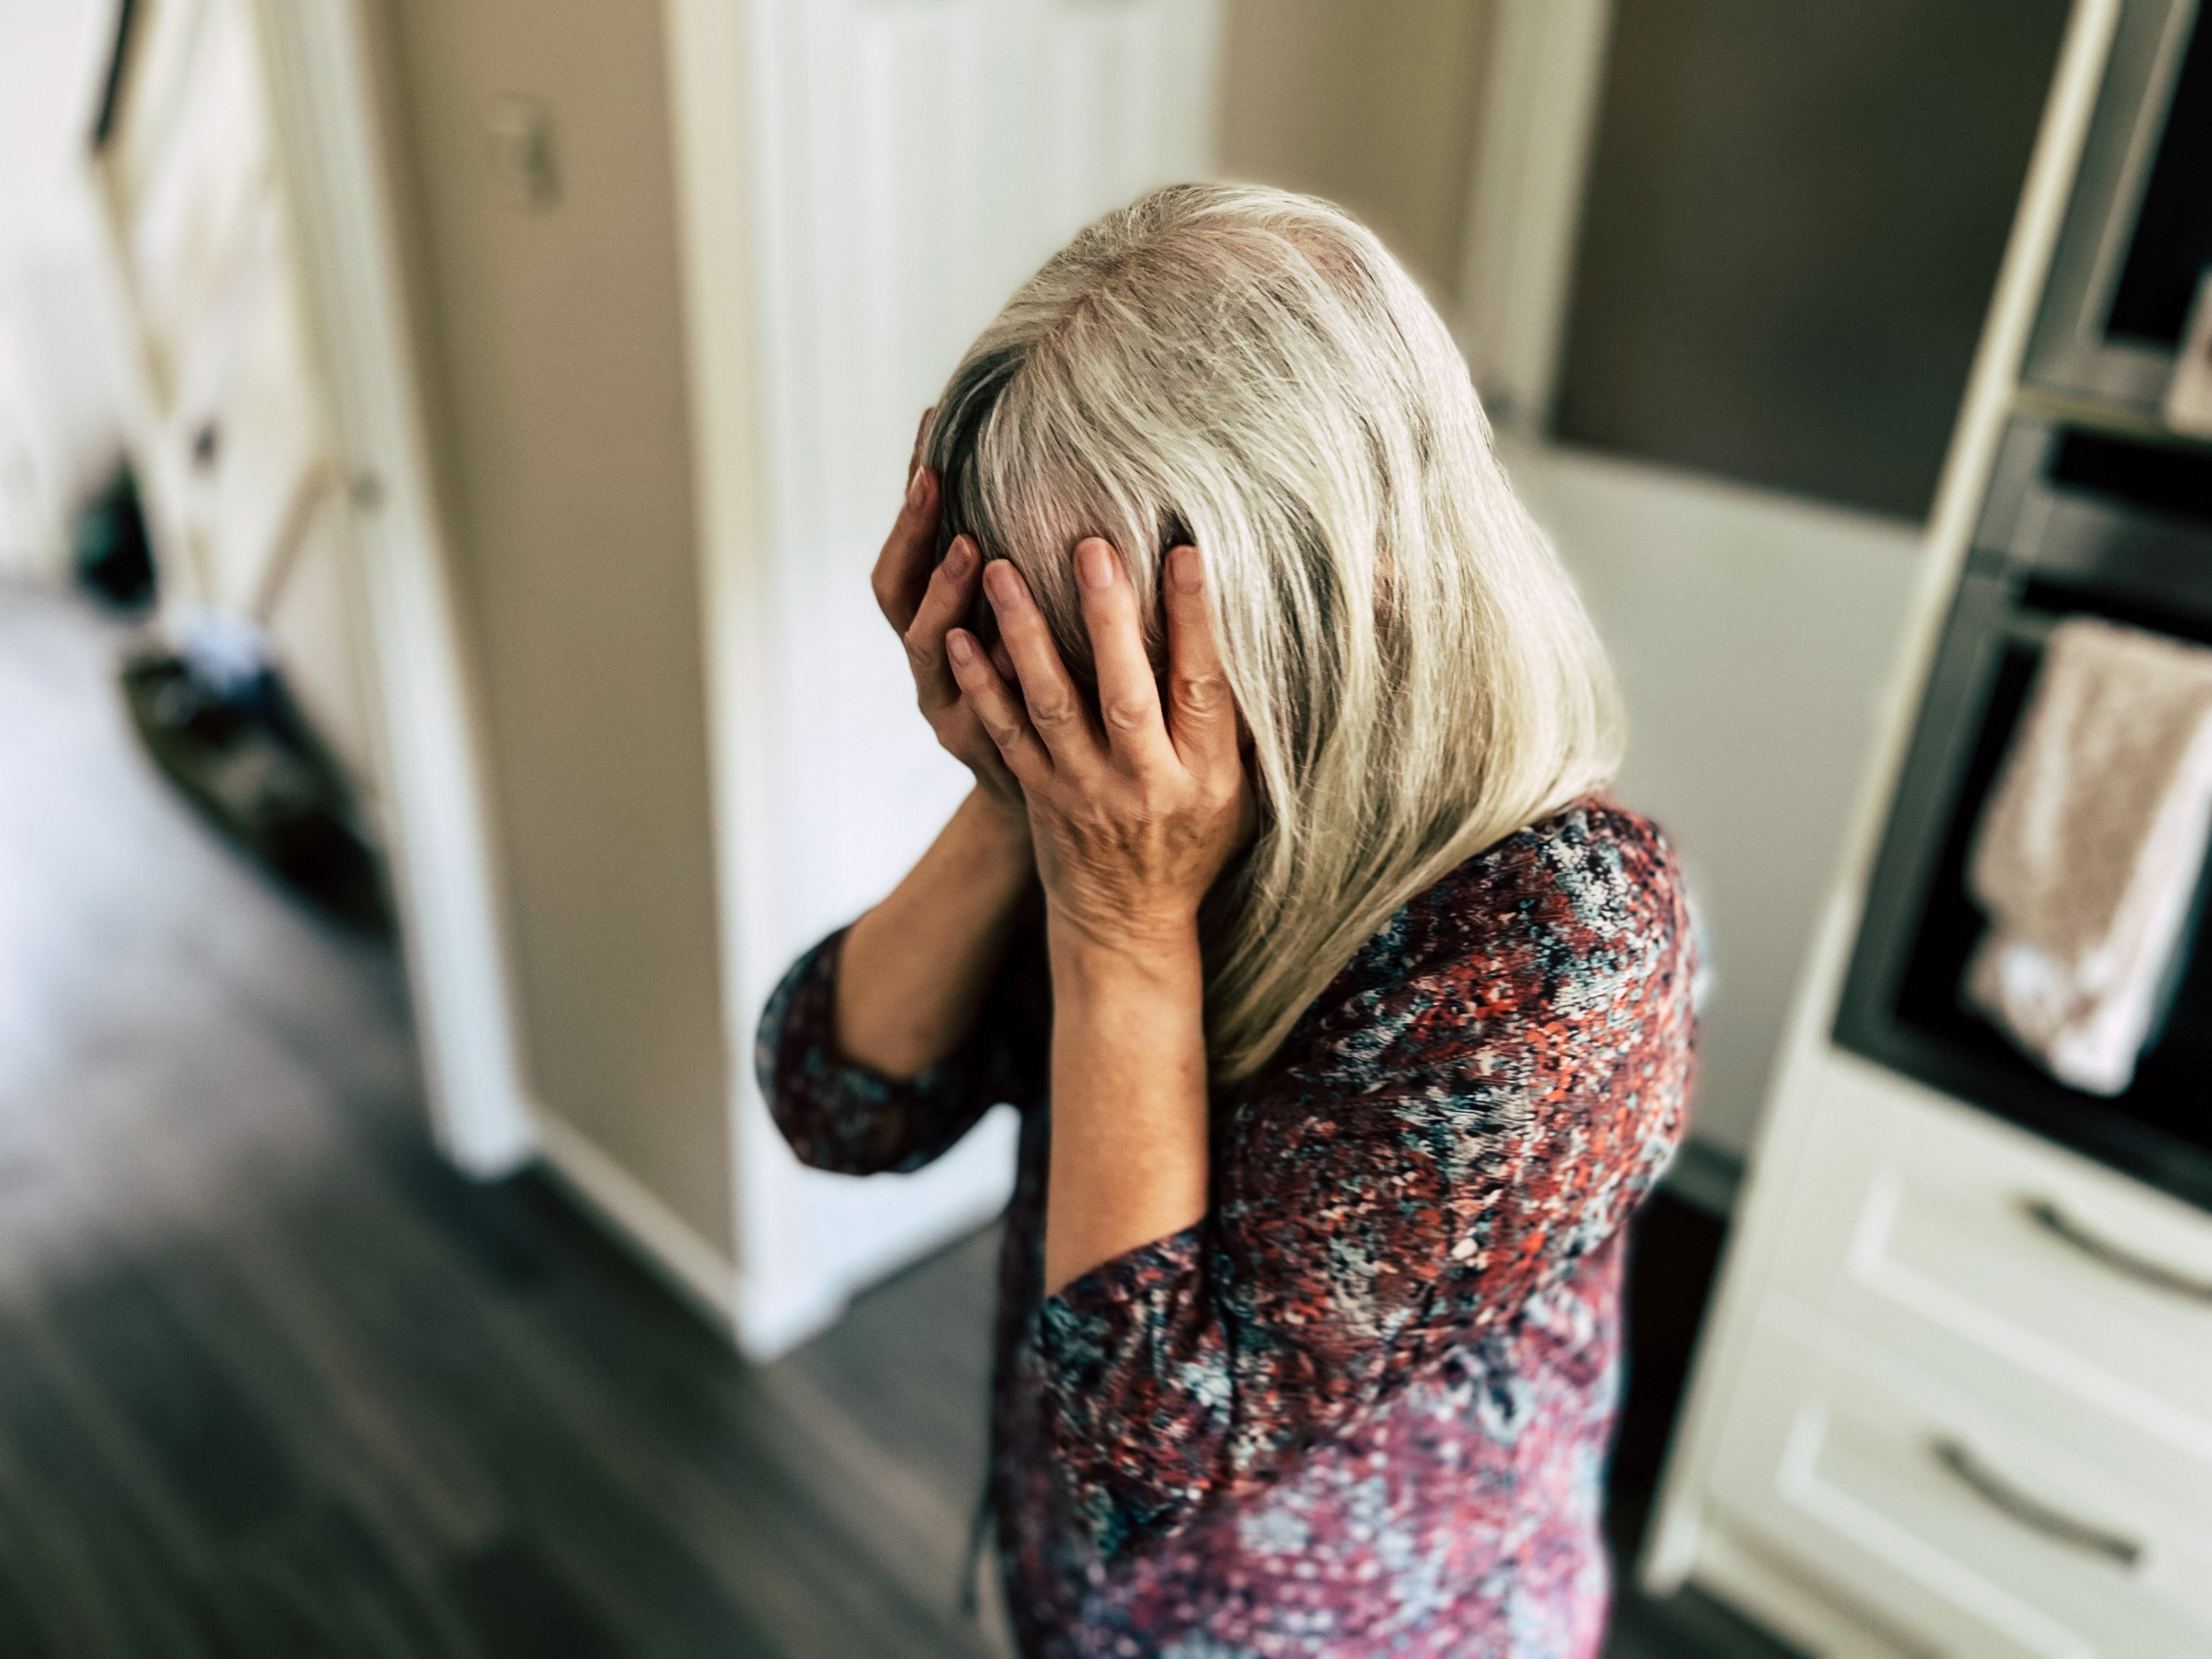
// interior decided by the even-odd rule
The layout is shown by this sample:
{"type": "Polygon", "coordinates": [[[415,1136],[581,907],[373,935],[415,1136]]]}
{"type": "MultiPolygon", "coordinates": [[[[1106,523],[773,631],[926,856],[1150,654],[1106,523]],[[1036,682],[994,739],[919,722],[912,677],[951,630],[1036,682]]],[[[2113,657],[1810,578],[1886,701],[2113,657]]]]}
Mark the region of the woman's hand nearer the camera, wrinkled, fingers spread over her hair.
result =
{"type": "Polygon", "coordinates": [[[1051,922],[1071,945],[1148,951],[1192,940],[1199,900],[1256,818],[1237,703],[1206,617],[1194,546],[1168,553],[1166,706],[1144,653],[1137,591],[1115,551],[1075,546],[1097,712],[1068,677],[1020,571],[993,560],[984,593],[1013,661],[1009,686],[967,630],[947,635],[960,690],[1029,799],[1051,922]]]}

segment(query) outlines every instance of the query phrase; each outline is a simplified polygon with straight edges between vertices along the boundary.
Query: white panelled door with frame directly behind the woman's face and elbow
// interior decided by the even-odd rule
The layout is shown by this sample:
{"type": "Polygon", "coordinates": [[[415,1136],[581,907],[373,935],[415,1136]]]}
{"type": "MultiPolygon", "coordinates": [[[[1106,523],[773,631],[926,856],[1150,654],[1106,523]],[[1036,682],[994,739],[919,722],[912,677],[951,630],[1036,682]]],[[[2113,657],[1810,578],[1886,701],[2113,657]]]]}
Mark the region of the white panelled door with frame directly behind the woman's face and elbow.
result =
{"type": "Polygon", "coordinates": [[[754,0],[741,27],[670,7],[754,1349],[1004,1201],[1004,1115],[914,1177],[803,1170],[750,1035],[783,967],[964,790],[867,588],[916,420],[1071,232],[1210,173],[1217,33],[1212,0],[754,0]]]}

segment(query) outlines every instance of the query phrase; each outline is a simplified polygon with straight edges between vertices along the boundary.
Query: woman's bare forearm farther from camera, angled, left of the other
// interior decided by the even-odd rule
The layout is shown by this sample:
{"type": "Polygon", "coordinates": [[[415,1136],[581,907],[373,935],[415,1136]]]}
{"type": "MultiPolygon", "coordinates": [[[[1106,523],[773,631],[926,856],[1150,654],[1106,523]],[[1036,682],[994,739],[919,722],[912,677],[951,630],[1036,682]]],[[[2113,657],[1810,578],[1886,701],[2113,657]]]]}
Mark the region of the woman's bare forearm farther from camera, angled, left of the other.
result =
{"type": "Polygon", "coordinates": [[[1029,830],[971,792],[845,936],[836,1037],[845,1060],[916,1077],[973,1031],[1035,880],[1029,830]]]}

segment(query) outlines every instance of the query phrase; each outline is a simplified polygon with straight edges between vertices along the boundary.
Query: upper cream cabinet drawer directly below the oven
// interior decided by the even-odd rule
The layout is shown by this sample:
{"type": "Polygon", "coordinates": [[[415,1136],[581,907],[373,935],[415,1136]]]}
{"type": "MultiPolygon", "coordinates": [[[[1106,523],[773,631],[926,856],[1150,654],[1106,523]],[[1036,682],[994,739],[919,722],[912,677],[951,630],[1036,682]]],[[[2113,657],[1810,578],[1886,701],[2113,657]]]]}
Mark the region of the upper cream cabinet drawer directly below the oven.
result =
{"type": "Polygon", "coordinates": [[[1816,1110],[1774,1287],[1969,1343],[2212,1480],[2212,1217],[1854,1060],[1816,1110]]]}

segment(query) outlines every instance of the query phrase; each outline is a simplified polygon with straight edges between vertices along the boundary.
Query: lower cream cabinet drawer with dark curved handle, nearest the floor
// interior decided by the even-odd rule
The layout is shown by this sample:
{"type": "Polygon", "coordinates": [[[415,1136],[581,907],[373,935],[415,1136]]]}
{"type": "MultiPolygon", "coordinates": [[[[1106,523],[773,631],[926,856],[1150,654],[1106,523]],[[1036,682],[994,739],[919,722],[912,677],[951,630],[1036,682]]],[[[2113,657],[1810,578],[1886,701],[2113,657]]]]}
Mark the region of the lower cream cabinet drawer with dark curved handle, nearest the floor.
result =
{"type": "Polygon", "coordinates": [[[2212,1652],[2212,1531],[1809,1316],[1754,1329],[1710,1495],[1933,1655],[2212,1652]]]}

